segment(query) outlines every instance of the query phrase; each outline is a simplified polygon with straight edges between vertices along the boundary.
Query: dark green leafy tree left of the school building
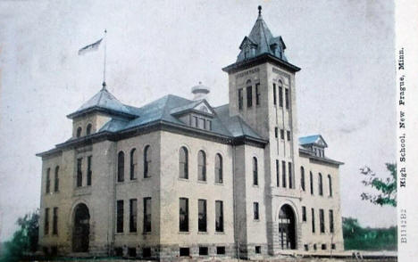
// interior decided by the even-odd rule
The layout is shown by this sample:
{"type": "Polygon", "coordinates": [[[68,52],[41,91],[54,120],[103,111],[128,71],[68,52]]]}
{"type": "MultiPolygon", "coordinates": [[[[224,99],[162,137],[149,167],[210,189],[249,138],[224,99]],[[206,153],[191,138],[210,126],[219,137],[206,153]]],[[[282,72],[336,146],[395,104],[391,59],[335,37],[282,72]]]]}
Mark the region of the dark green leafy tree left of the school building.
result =
{"type": "Polygon", "coordinates": [[[38,248],[39,209],[19,217],[16,224],[20,228],[13,233],[9,242],[4,242],[0,262],[20,261],[28,252],[35,252],[38,248]]]}

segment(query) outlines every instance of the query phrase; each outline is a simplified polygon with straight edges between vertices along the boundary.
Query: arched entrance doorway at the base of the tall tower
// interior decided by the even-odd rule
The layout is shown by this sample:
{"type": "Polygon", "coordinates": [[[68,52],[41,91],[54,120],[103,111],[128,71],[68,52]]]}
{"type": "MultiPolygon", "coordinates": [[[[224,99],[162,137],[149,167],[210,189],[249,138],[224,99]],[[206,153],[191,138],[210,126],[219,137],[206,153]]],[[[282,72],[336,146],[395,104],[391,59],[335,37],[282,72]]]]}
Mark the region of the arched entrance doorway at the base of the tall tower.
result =
{"type": "Polygon", "coordinates": [[[296,250],[295,212],[283,205],[279,213],[279,244],[281,250],[296,250]]]}

